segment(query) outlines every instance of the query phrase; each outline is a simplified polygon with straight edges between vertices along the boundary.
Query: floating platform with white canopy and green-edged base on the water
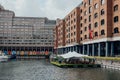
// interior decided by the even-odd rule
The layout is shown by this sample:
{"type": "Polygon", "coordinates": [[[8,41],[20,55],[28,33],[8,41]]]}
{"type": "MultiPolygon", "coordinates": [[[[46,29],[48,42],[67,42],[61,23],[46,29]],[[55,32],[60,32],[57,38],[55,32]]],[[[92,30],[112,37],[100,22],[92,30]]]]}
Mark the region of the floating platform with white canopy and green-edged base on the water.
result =
{"type": "Polygon", "coordinates": [[[98,68],[101,67],[97,64],[95,58],[89,58],[76,52],[69,52],[64,55],[58,55],[50,59],[51,64],[64,68],[98,68]]]}

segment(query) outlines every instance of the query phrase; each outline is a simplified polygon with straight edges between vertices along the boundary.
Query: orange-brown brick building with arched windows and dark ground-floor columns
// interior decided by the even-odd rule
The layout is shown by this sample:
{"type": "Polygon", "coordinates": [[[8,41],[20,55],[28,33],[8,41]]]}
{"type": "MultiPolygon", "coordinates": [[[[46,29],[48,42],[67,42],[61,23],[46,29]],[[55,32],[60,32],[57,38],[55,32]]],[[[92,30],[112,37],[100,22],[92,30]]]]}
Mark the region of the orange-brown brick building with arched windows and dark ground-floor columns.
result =
{"type": "MultiPolygon", "coordinates": [[[[83,0],[63,19],[65,26],[62,27],[65,32],[60,35],[65,35],[65,38],[59,38],[56,34],[55,39],[58,42],[62,39],[65,44],[57,45],[57,52],[76,51],[90,56],[119,56],[119,5],[119,0],[83,0]]],[[[56,27],[59,29],[61,26],[56,27]]]]}

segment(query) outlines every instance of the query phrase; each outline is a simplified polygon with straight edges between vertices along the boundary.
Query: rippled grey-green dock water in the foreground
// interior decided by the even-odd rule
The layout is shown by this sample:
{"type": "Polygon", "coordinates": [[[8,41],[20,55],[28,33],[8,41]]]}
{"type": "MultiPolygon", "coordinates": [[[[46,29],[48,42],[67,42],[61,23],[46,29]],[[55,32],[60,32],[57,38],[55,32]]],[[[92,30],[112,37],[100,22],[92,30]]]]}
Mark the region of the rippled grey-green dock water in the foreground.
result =
{"type": "Polygon", "coordinates": [[[46,60],[22,60],[0,63],[0,80],[120,80],[120,71],[59,68],[46,60]]]}

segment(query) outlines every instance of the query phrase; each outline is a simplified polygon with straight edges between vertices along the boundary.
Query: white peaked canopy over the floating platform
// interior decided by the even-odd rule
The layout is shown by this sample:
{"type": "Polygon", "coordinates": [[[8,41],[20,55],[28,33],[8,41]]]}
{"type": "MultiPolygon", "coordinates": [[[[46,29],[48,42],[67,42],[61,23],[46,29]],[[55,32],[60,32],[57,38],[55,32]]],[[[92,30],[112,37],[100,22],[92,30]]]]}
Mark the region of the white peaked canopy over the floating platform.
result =
{"type": "Polygon", "coordinates": [[[73,51],[73,52],[68,52],[66,54],[62,54],[62,55],[58,55],[58,56],[61,56],[63,58],[72,58],[72,57],[87,57],[88,55],[79,54],[79,53],[73,51]]]}

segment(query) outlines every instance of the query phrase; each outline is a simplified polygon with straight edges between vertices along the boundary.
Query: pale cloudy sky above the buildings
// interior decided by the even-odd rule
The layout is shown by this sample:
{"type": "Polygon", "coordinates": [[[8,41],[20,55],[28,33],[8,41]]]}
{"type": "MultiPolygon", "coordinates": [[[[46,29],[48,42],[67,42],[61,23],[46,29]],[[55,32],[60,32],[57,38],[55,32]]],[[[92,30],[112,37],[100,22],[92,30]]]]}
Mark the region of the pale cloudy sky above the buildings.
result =
{"type": "Polygon", "coordinates": [[[64,18],[82,0],[0,0],[0,4],[16,16],[64,18]]]}

